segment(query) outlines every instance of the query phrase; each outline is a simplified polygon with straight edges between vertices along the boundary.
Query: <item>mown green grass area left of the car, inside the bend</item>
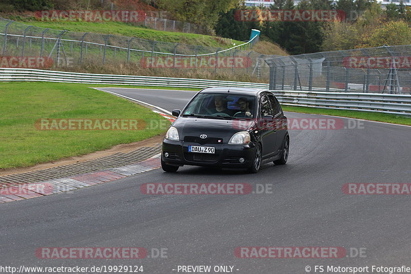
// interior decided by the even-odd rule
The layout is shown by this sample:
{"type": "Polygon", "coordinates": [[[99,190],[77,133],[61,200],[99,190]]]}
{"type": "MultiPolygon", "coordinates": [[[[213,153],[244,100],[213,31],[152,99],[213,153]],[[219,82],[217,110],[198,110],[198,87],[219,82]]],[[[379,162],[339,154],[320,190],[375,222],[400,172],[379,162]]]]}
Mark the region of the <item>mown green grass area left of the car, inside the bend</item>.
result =
{"type": "Polygon", "coordinates": [[[170,124],[148,108],[87,86],[2,83],[0,169],[27,167],[140,141],[165,132],[170,124]],[[162,126],[147,130],[47,131],[36,129],[38,119],[143,119],[147,125],[162,126]]]}

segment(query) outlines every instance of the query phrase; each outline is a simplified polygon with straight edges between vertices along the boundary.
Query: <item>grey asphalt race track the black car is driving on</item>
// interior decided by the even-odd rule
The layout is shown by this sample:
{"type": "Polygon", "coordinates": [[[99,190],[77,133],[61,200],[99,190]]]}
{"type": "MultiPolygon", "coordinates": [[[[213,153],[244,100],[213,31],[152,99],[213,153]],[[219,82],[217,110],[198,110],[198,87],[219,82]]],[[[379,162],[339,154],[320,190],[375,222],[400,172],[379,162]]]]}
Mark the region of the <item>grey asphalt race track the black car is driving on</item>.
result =
{"type": "MultiPolygon", "coordinates": [[[[195,95],[176,90],[106,90],[167,111],[183,108],[195,95]]],[[[287,165],[270,163],[257,174],[189,166],[175,174],[157,169],[99,186],[3,203],[0,265],[142,265],[146,274],[182,273],[179,265],[233,266],[239,274],[307,273],[307,266],[314,273],[315,265],[323,265],[323,273],[328,273],[327,266],[369,266],[368,273],[372,265],[411,267],[410,196],[342,191],[346,183],[411,183],[411,127],[341,119],[354,128],[290,130],[287,165]],[[141,194],[140,186],[147,182],[242,182],[271,191],[141,194]],[[35,250],[40,247],[143,247],[150,258],[39,259],[35,250]],[[237,247],[344,247],[347,255],[250,259],[237,258],[237,247]],[[152,258],[157,249],[166,252],[163,258],[152,258]]]]}

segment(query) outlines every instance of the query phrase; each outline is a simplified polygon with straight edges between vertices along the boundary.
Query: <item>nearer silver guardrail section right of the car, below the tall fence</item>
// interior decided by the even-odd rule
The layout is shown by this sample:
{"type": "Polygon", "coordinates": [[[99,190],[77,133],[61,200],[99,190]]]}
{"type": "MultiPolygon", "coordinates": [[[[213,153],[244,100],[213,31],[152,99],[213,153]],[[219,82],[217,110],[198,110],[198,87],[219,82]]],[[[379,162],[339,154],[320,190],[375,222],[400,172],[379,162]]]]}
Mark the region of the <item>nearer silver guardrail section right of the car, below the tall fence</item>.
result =
{"type": "Polygon", "coordinates": [[[411,95],[272,90],[283,105],[411,115],[411,95]]]}

